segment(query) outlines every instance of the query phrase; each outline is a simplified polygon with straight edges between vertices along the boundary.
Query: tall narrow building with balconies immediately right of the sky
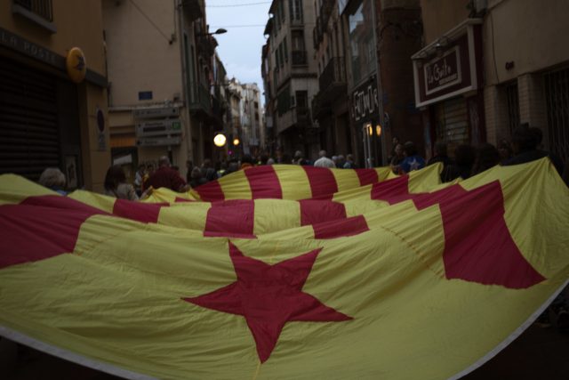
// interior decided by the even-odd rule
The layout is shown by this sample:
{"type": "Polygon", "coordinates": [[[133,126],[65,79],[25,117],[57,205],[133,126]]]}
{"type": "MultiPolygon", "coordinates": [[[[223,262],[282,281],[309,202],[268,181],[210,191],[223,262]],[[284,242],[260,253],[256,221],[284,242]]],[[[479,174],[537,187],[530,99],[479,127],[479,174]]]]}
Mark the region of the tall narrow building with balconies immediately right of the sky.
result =
{"type": "Polygon", "coordinates": [[[277,150],[301,150],[317,157],[320,141],[312,123],[311,99],[318,92],[317,63],[313,59],[312,28],[315,13],[307,0],[274,0],[265,30],[268,36],[272,117],[277,150]]]}

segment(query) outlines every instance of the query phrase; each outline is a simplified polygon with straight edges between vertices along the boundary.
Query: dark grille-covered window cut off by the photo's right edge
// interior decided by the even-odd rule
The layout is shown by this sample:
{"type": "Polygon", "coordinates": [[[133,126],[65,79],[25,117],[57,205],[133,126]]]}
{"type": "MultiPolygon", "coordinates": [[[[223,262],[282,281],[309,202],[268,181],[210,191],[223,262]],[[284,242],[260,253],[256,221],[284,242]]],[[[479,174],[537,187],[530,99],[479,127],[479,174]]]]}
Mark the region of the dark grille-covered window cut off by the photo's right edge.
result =
{"type": "Polygon", "coordinates": [[[569,162],[569,68],[545,73],[549,150],[569,162]]]}

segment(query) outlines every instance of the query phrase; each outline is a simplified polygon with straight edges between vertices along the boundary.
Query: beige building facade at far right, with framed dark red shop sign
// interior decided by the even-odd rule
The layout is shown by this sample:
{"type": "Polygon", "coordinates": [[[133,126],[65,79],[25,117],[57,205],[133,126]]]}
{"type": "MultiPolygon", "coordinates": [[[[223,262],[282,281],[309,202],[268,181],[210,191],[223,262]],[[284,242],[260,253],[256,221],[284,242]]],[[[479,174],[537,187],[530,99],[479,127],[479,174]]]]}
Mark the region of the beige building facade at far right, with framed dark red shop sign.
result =
{"type": "Polygon", "coordinates": [[[426,46],[413,54],[415,93],[431,139],[497,144],[529,123],[566,163],[566,2],[421,0],[421,10],[426,46]]]}

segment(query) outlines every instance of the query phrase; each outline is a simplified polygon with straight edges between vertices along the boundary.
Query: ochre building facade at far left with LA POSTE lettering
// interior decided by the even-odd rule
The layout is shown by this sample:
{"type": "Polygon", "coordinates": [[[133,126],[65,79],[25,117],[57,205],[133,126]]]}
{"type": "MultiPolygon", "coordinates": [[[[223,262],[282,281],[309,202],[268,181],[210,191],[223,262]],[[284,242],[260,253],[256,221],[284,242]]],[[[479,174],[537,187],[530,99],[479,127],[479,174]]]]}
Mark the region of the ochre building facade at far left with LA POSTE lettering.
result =
{"type": "Polygon", "coordinates": [[[56,166],[69,190],[102,190],[110,164],[102,29],[97,0],[0,3],[0,173],[36,181],[56,166]]]}

